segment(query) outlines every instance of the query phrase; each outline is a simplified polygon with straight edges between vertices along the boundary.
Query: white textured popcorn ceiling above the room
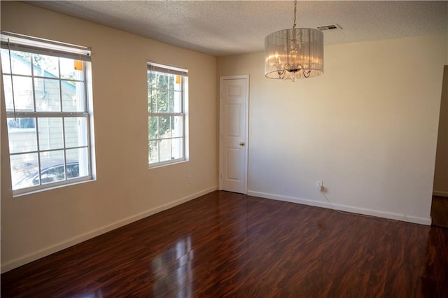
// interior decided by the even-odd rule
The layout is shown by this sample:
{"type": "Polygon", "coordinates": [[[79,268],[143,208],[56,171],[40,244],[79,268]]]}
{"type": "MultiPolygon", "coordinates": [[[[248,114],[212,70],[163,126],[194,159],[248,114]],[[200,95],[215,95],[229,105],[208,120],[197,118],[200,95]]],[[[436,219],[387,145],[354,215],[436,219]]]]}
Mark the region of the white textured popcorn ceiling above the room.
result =
{"type": "MultiPolygon", "coordinates": [[[[25,1],[211,55],[263,50],[293,1],[25,1]]],[[[448,33],[448,1],[298,1],[297,27],[339,24],[325,44],[448,33]]]]}

